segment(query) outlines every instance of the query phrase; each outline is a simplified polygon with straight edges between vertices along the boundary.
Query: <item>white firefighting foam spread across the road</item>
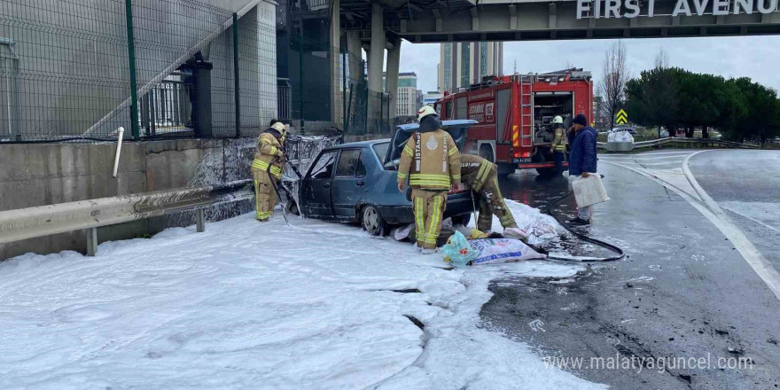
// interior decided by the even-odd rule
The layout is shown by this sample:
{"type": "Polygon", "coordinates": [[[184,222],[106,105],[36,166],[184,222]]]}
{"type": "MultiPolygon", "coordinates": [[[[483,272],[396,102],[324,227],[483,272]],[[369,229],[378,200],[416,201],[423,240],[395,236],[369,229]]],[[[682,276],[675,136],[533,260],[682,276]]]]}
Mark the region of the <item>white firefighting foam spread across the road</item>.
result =
{"type": "Polygon", "coordinates": [[[0,388],[605,388],[480,322],[489,280],[580,267],[446,270],[441,255],[352,226],[291,224],[246,214],[106,242],[94,258],[0,264],[0,388]],[[421,292],[391,291],[409,289],[421,292]]]}

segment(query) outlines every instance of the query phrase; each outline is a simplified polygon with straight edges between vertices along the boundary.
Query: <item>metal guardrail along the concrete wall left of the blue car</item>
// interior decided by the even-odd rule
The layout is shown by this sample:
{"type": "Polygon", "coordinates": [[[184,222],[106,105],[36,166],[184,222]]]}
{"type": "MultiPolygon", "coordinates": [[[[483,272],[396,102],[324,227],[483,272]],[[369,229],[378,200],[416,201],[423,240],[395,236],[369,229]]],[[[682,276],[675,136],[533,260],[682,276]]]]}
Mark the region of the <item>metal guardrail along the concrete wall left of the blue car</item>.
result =
{"type": "MultiPolygon", "coordinates": [[[[250,183],[252,180],[247,179],[214,186],[144,192],[0,211],[0,244],[85,229],[87,255],[94,256],[98,250],[98,228],[101,226],[193,208],[196,209],[197,231],[202,232],[206,230],[204,207],[222,199],[224,195],[244,189],[250,183]]],[[[247,195],[248,198],[250,197],[247,195]]]]}

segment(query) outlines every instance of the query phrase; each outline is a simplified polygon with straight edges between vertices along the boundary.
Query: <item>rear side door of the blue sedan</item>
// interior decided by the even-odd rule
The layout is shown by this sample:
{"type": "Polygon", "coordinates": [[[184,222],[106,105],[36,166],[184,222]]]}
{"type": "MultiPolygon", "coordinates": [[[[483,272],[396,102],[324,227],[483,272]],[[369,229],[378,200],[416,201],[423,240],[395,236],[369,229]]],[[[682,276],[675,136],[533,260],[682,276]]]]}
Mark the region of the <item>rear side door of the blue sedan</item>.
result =
{"type": "Polygon", "coordinates": [[[333,213],[339,221],[355,219],[355,207],[363,199],[366,184],[364,157],[362,149],[342,149],[339,154],[331,186],[333,213]]]}

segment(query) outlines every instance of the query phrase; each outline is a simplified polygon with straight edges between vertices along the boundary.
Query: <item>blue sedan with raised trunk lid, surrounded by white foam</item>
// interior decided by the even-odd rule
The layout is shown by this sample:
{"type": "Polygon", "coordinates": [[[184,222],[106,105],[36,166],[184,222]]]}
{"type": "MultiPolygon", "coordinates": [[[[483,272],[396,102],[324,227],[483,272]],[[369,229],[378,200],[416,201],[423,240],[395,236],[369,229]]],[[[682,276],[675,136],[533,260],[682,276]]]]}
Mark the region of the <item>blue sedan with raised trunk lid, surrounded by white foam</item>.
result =
{"type": "MultiPolygon", "coordinates": [[[[462,147],[476,121],[443,121],[442,129],[462,147]]],[[[390,225],[414,222],[411,191],[397,188],[398,162],[417,124],[398,126],[392,139],[380,139],[325,148],[298,185],[297,204],[289,207],[308,218],[360,223],[371,235],[389,232],[390,225]]],[[[472,193],[463,188],[450,193],[444,217],[469,221],[472,193]]]]}

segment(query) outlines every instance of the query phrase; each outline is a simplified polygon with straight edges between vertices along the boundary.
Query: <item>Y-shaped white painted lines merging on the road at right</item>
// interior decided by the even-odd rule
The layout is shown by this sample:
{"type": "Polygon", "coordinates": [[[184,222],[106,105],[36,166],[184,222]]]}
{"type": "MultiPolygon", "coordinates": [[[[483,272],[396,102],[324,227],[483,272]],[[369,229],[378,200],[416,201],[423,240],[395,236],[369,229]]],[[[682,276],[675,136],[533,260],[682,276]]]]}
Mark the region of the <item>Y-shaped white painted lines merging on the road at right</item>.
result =
{"type": "Polygon", "coordinates": [[[704,189],[701,188],[700,185],[698,185],[698,182],[695,178],[693,178],[693,175],[690,173],[690,168],[688,168],[688,162],[691,157],[694,155],[700,153],[700,152],[708,152],[708,151],[699,151],[691,153],[689,157],[687,157],[683,161],[683,175],[685,175],[687,182],[690,184],[690,187],[693,189],[694,192],[698,195],[701,200],[694,199],[692,195],[690,195],[688,192],[683,191],[680,189],[677,185],[673,183],[669,183],[665,181],[663,178],[659,177],[658,175],[653,175],[651,172],[648,172],[642,168],[634,168],[630,167],[628,165],[619,164],[617,162],[612,161],[605,161],[607,164],[613,165],[615,167],[625,168],[632,172],[635,172],[639,175],[644,175],[645,177],[651,179],[652,181],[659,183],[668,189],[675,191],[677,195],[680,195],[683,199],[687,200],[688,203],[690,203],[691,206],[696,208],[699,213],[704,215],[706,219],[708,219],[710,222],[712,222],[718,230],[721,230],[724,236],[726,238],[729,238],[729,241],[731,241],[731,244],[734,245],[734,247],[737,248],[737,251],[739,251],[740,254],[742,254],[742,257],[747,261],[748,265],[753,269],[753,271],[761,277],[761,280],[768,286],[769,290],[773,292],[778,300],[780,300],[780,274],[777,273],[777,270],[772,267],[772,265],[767,261],[767,259],[764,257],[761,252],[756,249],[755,246],[753,246],[753,243],[750,242],[749,239],[745,237],[745,233],[742,232],[742,230],[739,230],[736,225],[734,225],[733,222],[729,219],[729,216],[723,212],[721,207],[718,207],[717,203],[715,203],[714,199],[712,199],[704,189]],[[698,188],[698,189],[697,189],[698,188]],[[709,199],[707,201],[706,199],[709,199]],[[714,212],[714,210],[719,210],[720,213],[714,212]]]}

